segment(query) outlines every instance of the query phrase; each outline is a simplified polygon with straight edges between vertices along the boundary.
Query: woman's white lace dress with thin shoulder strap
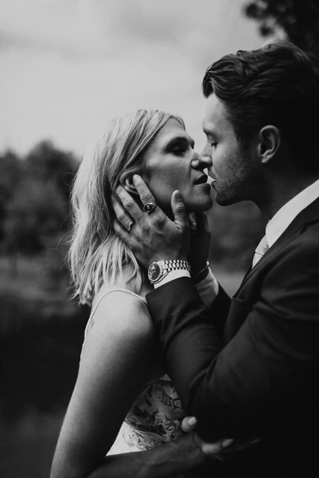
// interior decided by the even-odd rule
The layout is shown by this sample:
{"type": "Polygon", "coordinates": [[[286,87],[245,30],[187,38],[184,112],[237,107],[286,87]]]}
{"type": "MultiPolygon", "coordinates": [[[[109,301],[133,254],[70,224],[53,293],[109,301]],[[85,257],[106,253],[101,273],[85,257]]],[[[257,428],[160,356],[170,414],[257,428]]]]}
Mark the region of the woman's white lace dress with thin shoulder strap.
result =
{"type": "MultiPolygon", "coordinates": [[[[141,296],[126,289],[116,288],[109,292],[112,291],[129,293],[146,303],[141,296]]],[[[84,342],[97,306],[106,295],[100,298],[92,310],[85,329],[84,342]]],[[[146,385],[132,404],[108,455],[149,450],[174,440],[182,435],[180,422],[183,416],[181,402],[169,376],[165,374],[155,378],[146,385]]]]}

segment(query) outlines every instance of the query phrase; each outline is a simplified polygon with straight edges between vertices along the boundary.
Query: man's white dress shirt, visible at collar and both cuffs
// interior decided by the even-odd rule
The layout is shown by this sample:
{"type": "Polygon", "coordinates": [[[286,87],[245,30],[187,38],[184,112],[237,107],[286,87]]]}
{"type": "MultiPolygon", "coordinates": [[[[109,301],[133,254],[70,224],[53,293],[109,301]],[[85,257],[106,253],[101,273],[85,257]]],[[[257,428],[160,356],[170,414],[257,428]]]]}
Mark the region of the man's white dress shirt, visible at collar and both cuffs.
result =
{"type": "MultiPolygon", "coordinates": [[[[307,206],[317,198],[319,198],[319,179],[297,194],[294,198],[288,201],[288,203],[282,206],[279,211],[277,211],[275,216],[266,226],[266,238],[269,247],[280,238],[296,216],[298,216],[301,211],[307,208],[307,206]]],[[[179,277],[190,277],[190,274],[184,270],[168,272],[162,281],[158,284],[154,284],[154,287],[160,287],[161,285],[179,277]]],[[[209,307],[218,294],[218,282],[210,269],[205,279],[196,284],[196,288],[206,307],[209,307]]]]}

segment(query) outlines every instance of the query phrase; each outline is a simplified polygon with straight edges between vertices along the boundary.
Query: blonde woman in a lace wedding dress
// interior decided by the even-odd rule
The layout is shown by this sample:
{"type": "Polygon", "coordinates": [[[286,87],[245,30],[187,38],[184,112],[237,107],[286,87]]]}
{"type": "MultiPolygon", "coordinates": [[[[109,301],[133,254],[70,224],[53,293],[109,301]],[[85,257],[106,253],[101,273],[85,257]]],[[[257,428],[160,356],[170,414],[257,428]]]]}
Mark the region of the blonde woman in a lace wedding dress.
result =
{"type": "Polygon", "coordinates": [[[203,463],[191,436],[169,448],[182,436],[183,412],[156,346],[145,301],[151,286],[116,236],[111,207],[119,184],[135,194],[132,176],[138,173],[165,212],[171,213],[176,189],[188,212],[209,209],[210,187],[203,172],[191,167],[198,158],[192,148],[180,118],[139,110],[110,121],[79,167],[69,260],[74,296],[92,311],[51,478],[170,477],[203,463]],[[175,458],[167,461],[158,450],[175,458]]]}

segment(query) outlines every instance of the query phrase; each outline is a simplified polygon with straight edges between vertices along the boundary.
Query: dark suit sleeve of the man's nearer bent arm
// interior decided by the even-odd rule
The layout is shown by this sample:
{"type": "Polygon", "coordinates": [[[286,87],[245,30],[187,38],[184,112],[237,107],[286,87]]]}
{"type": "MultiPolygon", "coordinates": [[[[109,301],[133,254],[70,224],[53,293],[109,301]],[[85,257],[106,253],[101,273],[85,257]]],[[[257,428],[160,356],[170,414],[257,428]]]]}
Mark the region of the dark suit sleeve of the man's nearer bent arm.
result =
{"type": "Polygon", "coordinates": [[[210,318],[190,279],[166,286],[148,294],[148,305],[167,371],[186,414],[197,417],[199,435],[214,441],[285,429],[318,368],[318,246],[290,247],[253,304],[234,299],[228,320],[238,305],[245,320],[227,345],[217,299],[210,318]]]}

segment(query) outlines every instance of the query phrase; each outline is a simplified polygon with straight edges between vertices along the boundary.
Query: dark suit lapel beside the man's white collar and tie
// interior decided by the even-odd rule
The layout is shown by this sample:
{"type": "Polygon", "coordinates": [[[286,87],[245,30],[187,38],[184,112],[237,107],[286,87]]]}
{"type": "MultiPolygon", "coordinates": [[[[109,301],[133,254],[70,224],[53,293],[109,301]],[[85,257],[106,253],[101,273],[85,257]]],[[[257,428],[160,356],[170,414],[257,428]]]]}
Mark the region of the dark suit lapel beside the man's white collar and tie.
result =
{"type": "Polygon", "coordinates": [[[263,257],[257,262],[255,267],[248,269],[242,283],[235,295],[240,291],[242,286],[253,277],[259,269],[264,267],[271,259],[280,251],[286,244],[292,239],[298,236],[304,229],[307,223],[316,222],[319,220],[319,198],[311,203],[306,209],[301,211],[293,222],[288,226],[286,231],[280,236],[279,239],[268,249],[263,257]]]}

